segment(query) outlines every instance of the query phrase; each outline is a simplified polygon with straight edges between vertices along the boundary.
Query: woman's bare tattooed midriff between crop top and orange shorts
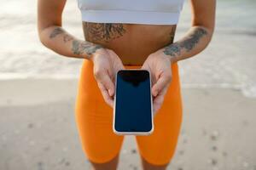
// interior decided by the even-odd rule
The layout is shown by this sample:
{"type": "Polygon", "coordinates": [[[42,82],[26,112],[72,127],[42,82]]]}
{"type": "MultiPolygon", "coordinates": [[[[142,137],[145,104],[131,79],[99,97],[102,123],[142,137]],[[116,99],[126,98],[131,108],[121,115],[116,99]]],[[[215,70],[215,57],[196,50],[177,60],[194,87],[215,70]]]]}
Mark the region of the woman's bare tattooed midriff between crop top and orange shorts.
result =
{"type": "Polygon", "coordinates": [[[143,65],[149,54],[173,42],[176,25],[142,25],[84,22],[88,42],[112,49],[124,65],[143,65]]]}

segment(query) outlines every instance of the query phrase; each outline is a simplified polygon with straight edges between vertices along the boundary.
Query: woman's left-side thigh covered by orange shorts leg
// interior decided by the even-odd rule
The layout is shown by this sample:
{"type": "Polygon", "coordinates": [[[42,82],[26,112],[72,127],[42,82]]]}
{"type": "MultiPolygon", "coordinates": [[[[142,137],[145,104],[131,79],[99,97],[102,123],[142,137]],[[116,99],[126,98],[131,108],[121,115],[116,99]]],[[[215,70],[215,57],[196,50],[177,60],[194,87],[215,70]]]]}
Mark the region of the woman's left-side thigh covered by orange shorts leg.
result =
{"type": "Polygon", "coordinates": [[[84,60],[81,68],[75,117],[84,154],[90,161],[105,163],[118,156],[124,137],[113,133],[113,109],[97,87],[89,60],[84,60]]]}

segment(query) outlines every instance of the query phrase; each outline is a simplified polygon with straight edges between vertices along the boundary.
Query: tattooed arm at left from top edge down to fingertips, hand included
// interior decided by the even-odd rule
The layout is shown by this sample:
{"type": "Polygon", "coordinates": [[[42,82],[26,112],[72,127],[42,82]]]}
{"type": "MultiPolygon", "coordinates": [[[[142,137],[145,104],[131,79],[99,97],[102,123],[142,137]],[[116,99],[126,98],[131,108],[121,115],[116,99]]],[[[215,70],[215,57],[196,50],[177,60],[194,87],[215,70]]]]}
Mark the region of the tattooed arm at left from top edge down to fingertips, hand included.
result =
{"type": "Polygon", "coordinates": [[[113,50],[100,44],[79,40],[61,27],[66,0],[38,0],[38,34],[40,41],[56,53],[93,62],[93,73],[106,103],[113,107],[113,77],[124,65],[113,50]],[[97,50],[99,49],[99,50],[97,50]]]}

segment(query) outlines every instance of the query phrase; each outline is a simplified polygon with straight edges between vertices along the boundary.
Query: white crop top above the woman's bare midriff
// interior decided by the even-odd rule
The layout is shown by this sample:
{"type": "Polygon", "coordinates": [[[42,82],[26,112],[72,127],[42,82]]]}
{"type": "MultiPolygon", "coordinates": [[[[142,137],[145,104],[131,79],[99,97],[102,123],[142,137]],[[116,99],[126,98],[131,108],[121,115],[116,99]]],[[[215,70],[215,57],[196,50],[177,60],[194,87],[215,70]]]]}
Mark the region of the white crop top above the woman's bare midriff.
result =
{"type": "Polygon", "coordinates": [[[97,23],[175,25],[184,0],[77,0],[82,20],[97,23]]]}

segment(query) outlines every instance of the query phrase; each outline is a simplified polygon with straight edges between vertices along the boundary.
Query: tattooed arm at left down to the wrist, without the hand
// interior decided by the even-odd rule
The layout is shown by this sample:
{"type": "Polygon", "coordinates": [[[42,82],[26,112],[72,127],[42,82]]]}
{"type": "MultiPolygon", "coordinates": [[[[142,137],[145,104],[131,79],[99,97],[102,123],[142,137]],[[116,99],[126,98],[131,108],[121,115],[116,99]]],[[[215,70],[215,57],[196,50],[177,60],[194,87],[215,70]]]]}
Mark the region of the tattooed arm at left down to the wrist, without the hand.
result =
{"type": "Polygon", "coordinates": [[[99,44],[86,42],[73,37],[61,27],[61,14],[66,0],[38,0],[38,34],[47,48],[58,54],[90,59],[99,44]]]}

